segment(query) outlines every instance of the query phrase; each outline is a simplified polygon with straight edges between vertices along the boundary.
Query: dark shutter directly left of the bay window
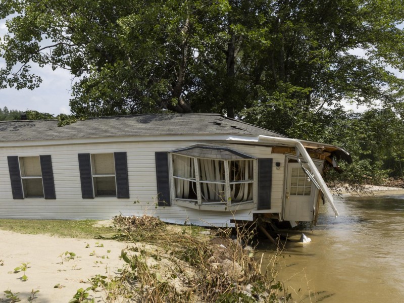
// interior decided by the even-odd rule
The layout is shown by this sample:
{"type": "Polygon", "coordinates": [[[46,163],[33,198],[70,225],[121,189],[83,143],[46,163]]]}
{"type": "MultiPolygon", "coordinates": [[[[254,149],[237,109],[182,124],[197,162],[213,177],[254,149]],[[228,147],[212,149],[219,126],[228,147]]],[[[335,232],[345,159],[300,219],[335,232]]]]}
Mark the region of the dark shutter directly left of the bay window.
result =
{"type": "Polygon", "coordinates": [[[159,206],[171,206],[170,172],[168,170],[168,153],[156,153],[156,177],[159,206]]]}

